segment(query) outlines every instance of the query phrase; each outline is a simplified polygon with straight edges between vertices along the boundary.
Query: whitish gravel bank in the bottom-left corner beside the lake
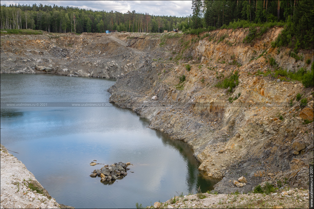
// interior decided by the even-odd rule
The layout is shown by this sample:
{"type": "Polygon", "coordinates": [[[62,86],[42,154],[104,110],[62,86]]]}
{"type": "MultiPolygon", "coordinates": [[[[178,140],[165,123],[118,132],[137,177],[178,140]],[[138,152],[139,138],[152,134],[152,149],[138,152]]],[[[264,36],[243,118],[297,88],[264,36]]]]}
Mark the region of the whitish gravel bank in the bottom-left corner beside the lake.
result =
{"type": "Polygon", "coordinates": [[[26,166],[1,144],[0,208],[74,208],[57,203],[27,170],[26,166]]]}

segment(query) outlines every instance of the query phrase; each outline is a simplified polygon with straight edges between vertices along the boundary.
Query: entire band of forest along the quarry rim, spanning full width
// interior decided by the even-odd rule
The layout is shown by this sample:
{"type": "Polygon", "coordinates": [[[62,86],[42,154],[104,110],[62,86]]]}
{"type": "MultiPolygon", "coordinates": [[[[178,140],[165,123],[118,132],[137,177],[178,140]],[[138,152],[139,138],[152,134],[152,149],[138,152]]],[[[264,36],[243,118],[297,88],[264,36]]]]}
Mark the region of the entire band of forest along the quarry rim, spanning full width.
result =
{"type": "Polygon", "coordinates": [[[42,4],[4,4],[0,8],[1,29],[35,29],[54,33],[103,33],[105,30],[162,33],[178,28],[183,32],[196,31],[199,34],[200,31],[234,28],[235,25],[250,27],[280,23],[285,24],[285,29],[275,45],[313,47],[314,1],[311,0],[193,0],[192,15],[186,17],[42,4]]]}

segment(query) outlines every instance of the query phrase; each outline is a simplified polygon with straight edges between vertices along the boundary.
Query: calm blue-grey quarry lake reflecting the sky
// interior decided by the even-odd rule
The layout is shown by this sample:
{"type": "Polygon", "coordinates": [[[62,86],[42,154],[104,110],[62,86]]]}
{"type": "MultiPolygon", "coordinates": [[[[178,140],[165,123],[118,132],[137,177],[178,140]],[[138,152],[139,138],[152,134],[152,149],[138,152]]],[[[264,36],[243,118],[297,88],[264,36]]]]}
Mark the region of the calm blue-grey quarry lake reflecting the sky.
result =
{"type": "MultiPolygon", "coordinates": [[[[1,102],[107,102],[112,79],[1,74],[1,102]]],[[[1,144],[21,160],[60,204],[76,208],[150,206],[183,192],[213,189],[187,144],[147,128],[149,121],[116,107],[1,107],[1,144]],[[123,179],[89,175],[131,162],[123,179]],[[133,171],[134,173],[131,173],[133,171]]]]}

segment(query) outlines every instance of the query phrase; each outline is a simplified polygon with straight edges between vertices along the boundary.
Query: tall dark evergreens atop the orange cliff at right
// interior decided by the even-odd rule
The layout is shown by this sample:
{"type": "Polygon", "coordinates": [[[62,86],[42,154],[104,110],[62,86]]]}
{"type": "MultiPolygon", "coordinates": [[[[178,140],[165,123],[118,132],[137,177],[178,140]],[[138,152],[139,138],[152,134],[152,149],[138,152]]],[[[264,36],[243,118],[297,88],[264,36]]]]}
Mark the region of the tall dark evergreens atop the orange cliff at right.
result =
{"type": "MultiPolygon", "coordinates": [[[[273,46],[298,49],[313,48],[314,1],[311,0],[253,0],[253,1],[192,1],[196,27],[234,28],[256,24],[285,25],[273,46]],[[202,7],[203,9],[197,9],[202,7]],[[203,11],[203,17],[197,15],[203,11]],[[248,24],[249,23],[249,24],[248,24]]],[[[254,29],[252,29],[254,30],[254,29]]]]}

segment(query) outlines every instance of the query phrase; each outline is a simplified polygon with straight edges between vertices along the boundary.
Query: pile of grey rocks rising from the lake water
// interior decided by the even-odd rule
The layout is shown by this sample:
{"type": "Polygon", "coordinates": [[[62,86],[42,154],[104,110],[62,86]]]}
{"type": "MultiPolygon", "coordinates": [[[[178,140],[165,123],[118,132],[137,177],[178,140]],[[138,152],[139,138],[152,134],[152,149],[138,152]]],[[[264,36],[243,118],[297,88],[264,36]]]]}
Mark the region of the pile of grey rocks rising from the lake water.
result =
{"type": "Polygon", "coordinates": [[[127,168],[128,165],[131,163],[114,163],[111,165],[104,165],[101,169],[95,169],[91,175],[91,177],[101,177],[100,181],[115,181],[117,179],[122,179],[124,176],[127,175],[127,168]]]}

